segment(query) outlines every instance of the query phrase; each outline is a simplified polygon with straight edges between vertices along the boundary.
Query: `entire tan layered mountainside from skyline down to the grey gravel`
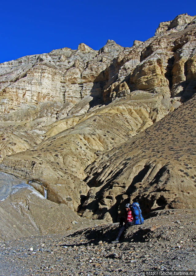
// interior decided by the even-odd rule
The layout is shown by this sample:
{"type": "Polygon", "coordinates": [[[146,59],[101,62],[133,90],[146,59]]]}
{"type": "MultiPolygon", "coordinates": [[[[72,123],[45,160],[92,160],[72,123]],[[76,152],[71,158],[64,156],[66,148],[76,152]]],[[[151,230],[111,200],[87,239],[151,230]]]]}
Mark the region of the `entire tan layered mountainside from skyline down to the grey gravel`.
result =
{"type": "Polygon", "coordinates": [[[195,145],[194,100],[187,102],[196,92],[195,64],[196,17],[187,14],[130,48],[108,40],[95,51],[81,43],[0,64],[0,170],[89,218],[115,220],[118,203],[132,199],[147,212],[195,207],[195,172],[178,175],[179,154],[189,164],[186,151],[195,145]]]}

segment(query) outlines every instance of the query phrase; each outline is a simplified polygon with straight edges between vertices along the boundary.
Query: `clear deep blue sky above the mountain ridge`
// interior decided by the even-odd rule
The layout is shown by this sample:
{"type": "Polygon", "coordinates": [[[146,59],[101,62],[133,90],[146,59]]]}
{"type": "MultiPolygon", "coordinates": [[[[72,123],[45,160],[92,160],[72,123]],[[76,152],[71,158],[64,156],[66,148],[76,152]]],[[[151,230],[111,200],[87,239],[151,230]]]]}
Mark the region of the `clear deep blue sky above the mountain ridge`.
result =
{"type": "Polygon", "coordinates": [[[196,15],[195,0],[2,1],[0,63],[53,49],[99,50],[108,39],[124,47],[153,36],[159,22],[196,15]]]}

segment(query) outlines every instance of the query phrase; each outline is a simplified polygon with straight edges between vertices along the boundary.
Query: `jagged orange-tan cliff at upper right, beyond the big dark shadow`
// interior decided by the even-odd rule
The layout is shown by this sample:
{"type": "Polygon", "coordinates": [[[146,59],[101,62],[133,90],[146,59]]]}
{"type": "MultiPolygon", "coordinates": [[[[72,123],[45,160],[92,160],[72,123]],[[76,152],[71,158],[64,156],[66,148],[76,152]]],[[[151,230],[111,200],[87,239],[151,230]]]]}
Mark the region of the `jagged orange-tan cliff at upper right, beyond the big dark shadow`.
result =
{"type": "Polygon", "coordinates": [[[195,61],[195,47],[194,16],[182,14],[160,23],[155,36],[143,43],[134,41],[133,47],[122,51],[110,65],[108,71],[115,74],[104,87],[105,101],[134,90],[189,98],[195,91],[195,77],[190,81],[189,70],[192,75],[195,69],[187,65],[195,61]],[[127,87],[122,87],[123,83],[127,87]]]}

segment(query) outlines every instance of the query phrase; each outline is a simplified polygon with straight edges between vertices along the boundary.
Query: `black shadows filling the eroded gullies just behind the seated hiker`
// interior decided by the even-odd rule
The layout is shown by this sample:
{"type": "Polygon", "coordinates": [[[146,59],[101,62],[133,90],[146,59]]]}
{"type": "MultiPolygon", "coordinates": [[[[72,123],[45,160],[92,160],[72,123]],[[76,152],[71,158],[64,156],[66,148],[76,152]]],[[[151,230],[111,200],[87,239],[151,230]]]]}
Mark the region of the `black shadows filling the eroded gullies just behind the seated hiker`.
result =
{"type": "MultiPolygon", "coordinates": [[[[126,166],[126,164],[125,164],[126,166]]],[[[119,222],[119,217],[122,216],[121,214],[118,214],[119,212],[119,206],[125,206],[125,204],[129,203],[129,199],[126,199],[122,202],[122,198],[123,198],[123,194],[118,194],[115,197],[115,204],[113,206],[110,207],[110,209],[106,207],[103,207],[102,209],[100,209],[99,207],[99,203],[101,203],[103,206],[105,205],[104,203],[104,198],[103,198],[103,194],[104,192],[108,189],[108,187],[110,187],[111,185],[113,185],[113,182],[115,181],[115,179],[118,177],[119,174],[121,174],[121,172],[125,169],[125,166],[123,168],[121,168],[119,171],[116,172],[116,174],[113,175],[112,178],[110,178],[102,187],[99,191],[96,192],[93,201],[91,201],[90,203],[88,203],[87,205],[85,205],[83,207],[83,204],[81,204],[79,210],[81,212],[83,212],[84,210],[88,209],[91,210],[95,215],[99,216],[99,219],[103,219],[104,214],[105,213],[109,213],[113,222],[119,222]]],[[[139,173],[133,178],[132,183],[129,185],[129,187],[127,188],[125,194],[128,195],[128,197],[130,197],[133,192],[137,189],[137,183],[141,183],[142,179],[144,178],[144,176],[148,173],[150,167],[149,166],[144,166],[144,168],[139,171],[139,173]]],[[[151,185],[157,186],[159,183],[159,179],[163,176],[164,173],[168,172],[168,169],[166,166],[163,166],[155,175],[155,177],[153,178],[151,185]]],[[[101,174],[101,172],[99,172],[99,174],[101,174]]],[[[102,182],[96,181],[97,175],[95,175],[87,184],[90,187],[98,187],[102,185],[102,182]]],[[[157,190],[158,191],[158,190],[157,190]]],[[[161,190],[160,190],[161,191],[161,190]]],[[[156,192],[156,190],[154,190],[153,192],[156,192]]],[[[88,195],[86,197],[86,199],[88,198],[88,195]]],[[[148,216],[148,214],[152,211],[156,211],[156,210],[162,210],[165,208],[165,206],[167,205],[167,200],[163,197],[160,196],[159,198],[155,198],[154,195],[152,194],[151,197],[144,197],[144,196],[136,196],[133,199],[133,202],[138,202],[140,204],[140,208],[142,211],[142,215],[144,218],[146,218],[146,216],[148,216]],[[154,205],[154,202],[156,201],[158,207],[156,209],[152,210],[152,206],[154,205]]],[[[124,208],[124,207],[123,207],[124,208]]]]}

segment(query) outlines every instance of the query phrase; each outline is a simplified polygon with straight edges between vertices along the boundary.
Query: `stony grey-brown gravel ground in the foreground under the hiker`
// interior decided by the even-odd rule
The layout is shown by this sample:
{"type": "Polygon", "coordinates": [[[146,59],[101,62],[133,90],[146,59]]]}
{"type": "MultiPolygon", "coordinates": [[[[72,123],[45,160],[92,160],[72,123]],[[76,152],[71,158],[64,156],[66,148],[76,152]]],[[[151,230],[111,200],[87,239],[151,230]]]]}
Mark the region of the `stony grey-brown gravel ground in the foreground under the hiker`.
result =
{"type": "Polygon", "coordinates": [[[196,270],[196,209],[160,210],[117,244],[118,224],[0,243],[1,275],[145,275],[196,270]]]}

